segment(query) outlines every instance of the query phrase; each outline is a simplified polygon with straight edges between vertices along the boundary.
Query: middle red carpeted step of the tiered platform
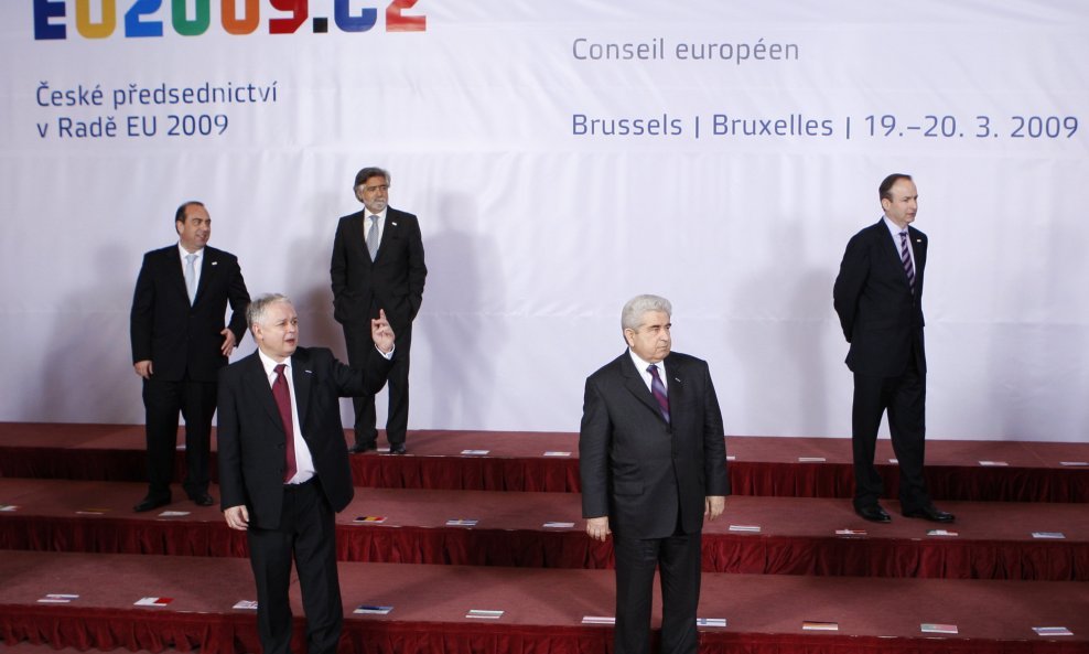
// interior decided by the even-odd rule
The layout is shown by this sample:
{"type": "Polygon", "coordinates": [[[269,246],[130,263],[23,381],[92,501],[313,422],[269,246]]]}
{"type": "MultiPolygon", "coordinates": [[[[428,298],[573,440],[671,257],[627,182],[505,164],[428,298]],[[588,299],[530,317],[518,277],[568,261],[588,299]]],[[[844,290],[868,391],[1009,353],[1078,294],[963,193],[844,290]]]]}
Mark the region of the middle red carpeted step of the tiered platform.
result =
{"type": "MultiPolygon", "coordinates": [[[[228,529],[217,507],[179,500],[136,514],[142,492],[126,482],[0,480],[0,505],[8,506],[0,548],[246,556],[245,534],[228,529]]],[[[958,516],[952,525],[886,506],[893,523],[876,525],[844,500],[732,496],[704,529],[704,570],[1089,581],[1085,505],[944,503],[958,516]],[[858,530],[865,534],[850,533],[858,530]]],[[[612,567],[611,545],[582,532],[576,494],[357,489],[337,523],[346,561],[612,567]]]]}

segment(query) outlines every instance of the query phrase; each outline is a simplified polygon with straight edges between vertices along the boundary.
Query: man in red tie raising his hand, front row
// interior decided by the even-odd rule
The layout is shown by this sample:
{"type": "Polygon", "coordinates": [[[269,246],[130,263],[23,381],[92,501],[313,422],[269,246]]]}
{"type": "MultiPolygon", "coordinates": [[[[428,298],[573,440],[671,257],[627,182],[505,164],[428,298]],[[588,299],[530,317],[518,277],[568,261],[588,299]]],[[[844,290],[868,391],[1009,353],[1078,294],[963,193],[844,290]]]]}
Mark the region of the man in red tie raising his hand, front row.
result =
{"type": "Polygon", "coordinates": [[[335,654],[344,609],[334,513],[354,494],[337,398],[381,388],[393,333],[379,312],[367,366],[349,368],[324,347],[298,347],[299,317],[283,296],[258,298],[247,318],[258,351],[219,375],[220,506],[230,528],[247,532],[263,653],[291,651],[294,558],[306,650],[335,654]]]}

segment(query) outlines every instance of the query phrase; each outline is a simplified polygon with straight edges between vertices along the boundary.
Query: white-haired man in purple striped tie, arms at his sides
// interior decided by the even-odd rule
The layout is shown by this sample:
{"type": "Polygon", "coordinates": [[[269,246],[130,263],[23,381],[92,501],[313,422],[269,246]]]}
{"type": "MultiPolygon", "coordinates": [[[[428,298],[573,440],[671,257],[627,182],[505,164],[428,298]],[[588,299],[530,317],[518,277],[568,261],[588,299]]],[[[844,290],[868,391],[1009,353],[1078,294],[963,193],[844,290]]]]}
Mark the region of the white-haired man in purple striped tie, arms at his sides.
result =
{"type": "Polygon", "coordinates": [[[586,379],[579,435],[582,515],[613,535],[617,654],[650,651],[661,575],[661,652],[694,654],[704,518],[730,493],[725,435],[704,361],[670,353],[668,300],[638,296],[621,314],[628,350],[586,379]]]}

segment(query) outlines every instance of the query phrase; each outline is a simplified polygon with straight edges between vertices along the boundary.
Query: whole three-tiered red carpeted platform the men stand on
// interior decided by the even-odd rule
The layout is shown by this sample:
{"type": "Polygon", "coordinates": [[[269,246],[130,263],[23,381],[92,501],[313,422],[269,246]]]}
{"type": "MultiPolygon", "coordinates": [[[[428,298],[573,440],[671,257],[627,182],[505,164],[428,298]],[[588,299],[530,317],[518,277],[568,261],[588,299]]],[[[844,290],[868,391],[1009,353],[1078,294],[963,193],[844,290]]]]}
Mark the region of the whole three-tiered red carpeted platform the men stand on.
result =
{"type": "MultiPolygon", "coordinates": [[[[727,438],[735,494],[705,529],[700,605],[725,626],[701,628],[701,654],[1089,654],[1089,446],[932,441],[952,525],[894,500],[892,524],[858,518],[849,446],[727,438]]],[[[582,532],[578,436],[411,432],[409,449],[352,457],[339,654],[611,652],[611,626],[583,623],[612,614],[613,572],[582,532]]],[[[6,651],[258,651],[252,610],[235,608],[255,599],[245,536],[176,485],[133,513],[142,475],[140,426],[0,425],[6,651]],[[150,597],[171,601],[133,604],[150,597]]]]}

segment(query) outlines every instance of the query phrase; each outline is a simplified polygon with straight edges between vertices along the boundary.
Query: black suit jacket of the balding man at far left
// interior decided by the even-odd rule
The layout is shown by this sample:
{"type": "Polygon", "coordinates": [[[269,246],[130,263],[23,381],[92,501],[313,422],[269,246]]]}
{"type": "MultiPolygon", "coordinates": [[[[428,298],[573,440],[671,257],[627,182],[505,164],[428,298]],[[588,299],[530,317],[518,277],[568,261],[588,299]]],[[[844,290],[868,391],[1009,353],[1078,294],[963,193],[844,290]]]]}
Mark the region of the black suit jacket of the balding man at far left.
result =
{"type": "Polygon", "coordinates": [[[230,331],[241,343],[249,293],[235,255],[204,247],[201,283],[191,307],[177,246],[145,254],[129,322],[132,363],[150,360],[155,378],[164,382],[181,380],[186,371],[195,382],[215,382],[227,365],[219,332],[228,302],[230,331]]]}

